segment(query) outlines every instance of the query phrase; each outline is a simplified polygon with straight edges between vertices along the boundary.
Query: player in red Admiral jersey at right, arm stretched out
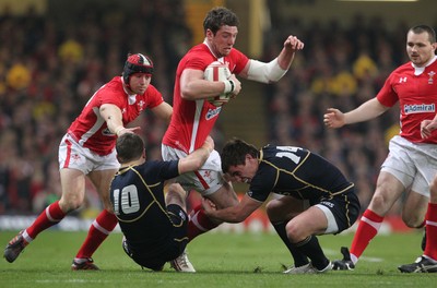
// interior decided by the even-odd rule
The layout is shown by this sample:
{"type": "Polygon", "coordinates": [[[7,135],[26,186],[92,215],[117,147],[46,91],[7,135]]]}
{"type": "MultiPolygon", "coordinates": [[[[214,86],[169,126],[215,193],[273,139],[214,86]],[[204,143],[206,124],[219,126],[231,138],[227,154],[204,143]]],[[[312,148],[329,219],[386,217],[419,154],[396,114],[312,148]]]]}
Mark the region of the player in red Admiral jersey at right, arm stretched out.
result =
{"type": "Polygon", "coordinates": [[[334,269],[353,269],[371,239],[378,233],[383,217],[394,202],[406,194],[402,218],[406,226],[421,228],[429,200],[429,184],[437,170],[437,134],[421,136],[421,122],[432,120],[437,103],[436,33],[417,25],[406,34],[406,53],[411,61],[395,69],[378,95],[358,108],[343,113],[330,108],[324,115],[329,128],[340,128],[374,119],[398,101],[401,131],[390,140],[390,154],[382,164],[375,194],[364,212],[351,245],[342,248],[343,260],[334,269]]]}

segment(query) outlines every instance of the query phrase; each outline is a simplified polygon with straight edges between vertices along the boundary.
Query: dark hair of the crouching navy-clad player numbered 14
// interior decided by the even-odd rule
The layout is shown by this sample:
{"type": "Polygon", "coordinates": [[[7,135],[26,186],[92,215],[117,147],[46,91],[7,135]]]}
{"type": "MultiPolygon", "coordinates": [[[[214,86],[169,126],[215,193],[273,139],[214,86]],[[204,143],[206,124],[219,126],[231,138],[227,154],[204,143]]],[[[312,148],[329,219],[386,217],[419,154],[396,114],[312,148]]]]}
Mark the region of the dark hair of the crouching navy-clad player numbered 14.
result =
{"type": "Polygon", "coordinates": [[[247,154],[257,158],[259,151],[256,146],[237,137],[227,141],[220,155],[222,158],[222,171],[226,173],[231,166],[244,165],[247,154]]]}

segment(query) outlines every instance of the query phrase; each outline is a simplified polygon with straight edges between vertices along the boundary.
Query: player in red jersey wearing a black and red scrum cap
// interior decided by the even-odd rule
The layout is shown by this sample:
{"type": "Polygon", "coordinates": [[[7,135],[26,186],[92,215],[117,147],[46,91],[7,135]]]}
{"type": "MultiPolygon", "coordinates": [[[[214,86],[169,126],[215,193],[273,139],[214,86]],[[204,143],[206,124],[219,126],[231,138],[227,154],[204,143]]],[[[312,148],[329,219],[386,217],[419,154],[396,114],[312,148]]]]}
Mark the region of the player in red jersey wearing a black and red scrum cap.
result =
{"type": "Polygon", "coordinates": [[[122,76],[114,77],[91,97],[59,145],[61,199],[8,243],[4,250],[8,262],[14,262],[39,232],[60,223],[83,204],[86,176],[95,185],[104,211],[90,227],[71,268],[98,269],[92,255],[117,225],[109,201],[110,181],[119,168],[115,151],[117,136],[140,131],[139,127],[126,125],[146,108],[166,121],[172,117],[172,106],[150,84],[152,74],[153,63],[146,56],[130,55],[122,76]]]}

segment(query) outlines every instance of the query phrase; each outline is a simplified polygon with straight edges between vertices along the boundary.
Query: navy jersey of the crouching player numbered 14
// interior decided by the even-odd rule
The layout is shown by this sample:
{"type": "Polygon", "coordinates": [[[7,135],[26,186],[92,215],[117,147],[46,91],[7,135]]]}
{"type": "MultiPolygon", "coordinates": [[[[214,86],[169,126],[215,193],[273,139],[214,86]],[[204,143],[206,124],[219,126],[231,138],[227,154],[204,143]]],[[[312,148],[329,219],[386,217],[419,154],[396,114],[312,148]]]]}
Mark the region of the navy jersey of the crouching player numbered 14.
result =
{"type": "Polygon", "coordinates": [[[354,184],[323,157],[302,147],[267,145],[260,151],[259,168],[248,195],[264,202],[271,192],[309,200],[347,193],[354,184]]]}

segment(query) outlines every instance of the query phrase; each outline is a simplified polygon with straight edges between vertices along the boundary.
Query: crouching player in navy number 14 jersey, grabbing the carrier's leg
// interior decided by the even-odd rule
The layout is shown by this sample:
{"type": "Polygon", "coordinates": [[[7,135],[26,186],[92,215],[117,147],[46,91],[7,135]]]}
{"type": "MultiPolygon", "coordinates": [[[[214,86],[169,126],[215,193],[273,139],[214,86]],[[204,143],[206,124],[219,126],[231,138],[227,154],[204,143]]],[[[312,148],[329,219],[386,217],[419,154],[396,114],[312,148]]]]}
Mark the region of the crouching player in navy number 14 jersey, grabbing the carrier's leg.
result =
{"type": "Polygon", "coordinates": [[[267,201],[267,214],[293,255],[286,274],[317,274],[332,268],[317,235],[340,233],[358,217],[354,184],[327,159],[305,148],[264,146],[258,151],[241,140],[228,141],[221,154],[222,169],[232,181],[250,184],[234,207],[216,211],[203,201],[208,216],[227,223],[244,221],[267,201]],[[309,259],[309,260],[308,260],[309,259]]]}

